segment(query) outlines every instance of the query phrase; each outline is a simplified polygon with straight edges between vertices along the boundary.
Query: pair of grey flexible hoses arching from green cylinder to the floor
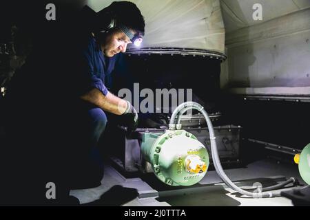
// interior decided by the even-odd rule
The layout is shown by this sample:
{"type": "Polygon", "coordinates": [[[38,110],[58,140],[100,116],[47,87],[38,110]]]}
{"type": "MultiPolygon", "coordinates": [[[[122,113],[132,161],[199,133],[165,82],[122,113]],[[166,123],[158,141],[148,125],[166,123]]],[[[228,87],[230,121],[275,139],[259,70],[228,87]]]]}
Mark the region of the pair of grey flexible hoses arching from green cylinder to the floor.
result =
{"type": "MultiPolygon", "coordinates": [[[[216,146],[216,137],[214,135],[213,125],[211,123],[209,115],[207,114],[205,109],[203,109],[203,106],[201,106],[200,104],[198,104],[196,102],[184,102],[183,104],[180,104],[178,107],[176,107],[176,109],[172,113],[172,117],[170,118],[169,127],[171,127],[171,128],[175,127],[175,121],[179,123],[180,122],[180,120],[179,120],[180,115],[182,115],[183,113],[185,113],[189,109],[196,109],[196,110],[200,111],[201,113],[203,113],[203,116],[205,117],[208,129],[209,129],[210,142],[211,142],[211,155],[212,155],[212,159],[214,162],[214,167],[216,168],[216,173],[218,173],[218,175],[220,176],[220,179],[222,179],[227,186],[229,186],[233,190],[236,190],[237,192],[240,192],[242,195],[247,195],[249,197],[254,197],[254,198],[280,197],[281,192],[248,192],[246,190],[242,190],[241,188],[236,186],[236,184],[234,184],[229,179],[229,177],[227,177],[226,173],[223,170],[222,165],[220,164],[220,157],[218,156],[218,148],[216,146]]],[[[292,180],[289,179],[288,181],[286,181],[287,182],[286,184],[285,183],[282,183],[282,184],[287,185],[288,183],[291,183],[291,181],[292,180]]],[[[278,184],[276,186],[271,186],[270,188],[271,188],[271,190],[273,190],[273,189],[275,189],[274,187],[278,188],[282,184],[278,184]]],[[[270,188],[269,188],[269,190],[270,190],[270,188]]]]}

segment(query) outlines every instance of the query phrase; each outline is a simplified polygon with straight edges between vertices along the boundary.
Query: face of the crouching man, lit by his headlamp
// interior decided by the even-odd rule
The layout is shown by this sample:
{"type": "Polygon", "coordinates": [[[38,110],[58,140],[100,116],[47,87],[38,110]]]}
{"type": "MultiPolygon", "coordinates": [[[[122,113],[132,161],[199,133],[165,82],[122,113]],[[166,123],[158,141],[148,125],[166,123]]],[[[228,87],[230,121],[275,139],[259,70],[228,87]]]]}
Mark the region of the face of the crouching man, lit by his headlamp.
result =
{"type": "Polygon", "coordinates": [[[132,43],[129,37],[122,31],[110,34],[105,39],[105,43],[101,45],[103,54],[107,57],[112,57],[119,52],[126,52],[127,45],[132,43]]]}

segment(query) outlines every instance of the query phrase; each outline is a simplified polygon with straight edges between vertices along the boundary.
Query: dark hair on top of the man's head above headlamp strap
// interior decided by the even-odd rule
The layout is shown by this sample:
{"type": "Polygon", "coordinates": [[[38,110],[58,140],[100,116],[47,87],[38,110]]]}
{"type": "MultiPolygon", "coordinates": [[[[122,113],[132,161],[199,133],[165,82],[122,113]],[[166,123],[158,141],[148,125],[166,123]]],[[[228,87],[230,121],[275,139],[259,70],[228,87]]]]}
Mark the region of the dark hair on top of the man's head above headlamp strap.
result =
{"type": "Polygon", "coordinates": [[[144,35],[145,21],[138,7],[130,1],[114,1],[107,8],[98,12],[99,17],[103,14],[110,14],[117,21],[127,28],[144,35]]]}

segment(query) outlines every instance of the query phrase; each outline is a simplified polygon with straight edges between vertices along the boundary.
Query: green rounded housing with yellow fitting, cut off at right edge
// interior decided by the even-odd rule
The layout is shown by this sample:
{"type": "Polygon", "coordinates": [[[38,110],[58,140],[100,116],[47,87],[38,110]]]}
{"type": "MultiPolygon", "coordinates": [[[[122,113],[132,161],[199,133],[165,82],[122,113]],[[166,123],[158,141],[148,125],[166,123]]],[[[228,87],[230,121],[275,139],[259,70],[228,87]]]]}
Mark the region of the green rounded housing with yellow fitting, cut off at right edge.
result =
{"type": "Polygon", "coordinates": [[[302,153],[296,154],[294,161],[298,164],[300,176],[310,184],[310,144],[304,147],[302,153]]]}

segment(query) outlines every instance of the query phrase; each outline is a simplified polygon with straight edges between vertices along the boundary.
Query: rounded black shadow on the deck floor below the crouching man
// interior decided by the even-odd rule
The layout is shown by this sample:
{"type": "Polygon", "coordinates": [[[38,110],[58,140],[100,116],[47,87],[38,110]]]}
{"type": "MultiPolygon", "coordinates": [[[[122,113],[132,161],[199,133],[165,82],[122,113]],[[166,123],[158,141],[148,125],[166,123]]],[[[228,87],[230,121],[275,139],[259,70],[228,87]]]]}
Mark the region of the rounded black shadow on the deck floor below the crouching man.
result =
{"type": "Polygon", "coordinates": [[[116,185],[103,193],[100,199],[81,206],[122,206],[136,197],[138,197],[138,191],[135,188],[116,185]]]}

